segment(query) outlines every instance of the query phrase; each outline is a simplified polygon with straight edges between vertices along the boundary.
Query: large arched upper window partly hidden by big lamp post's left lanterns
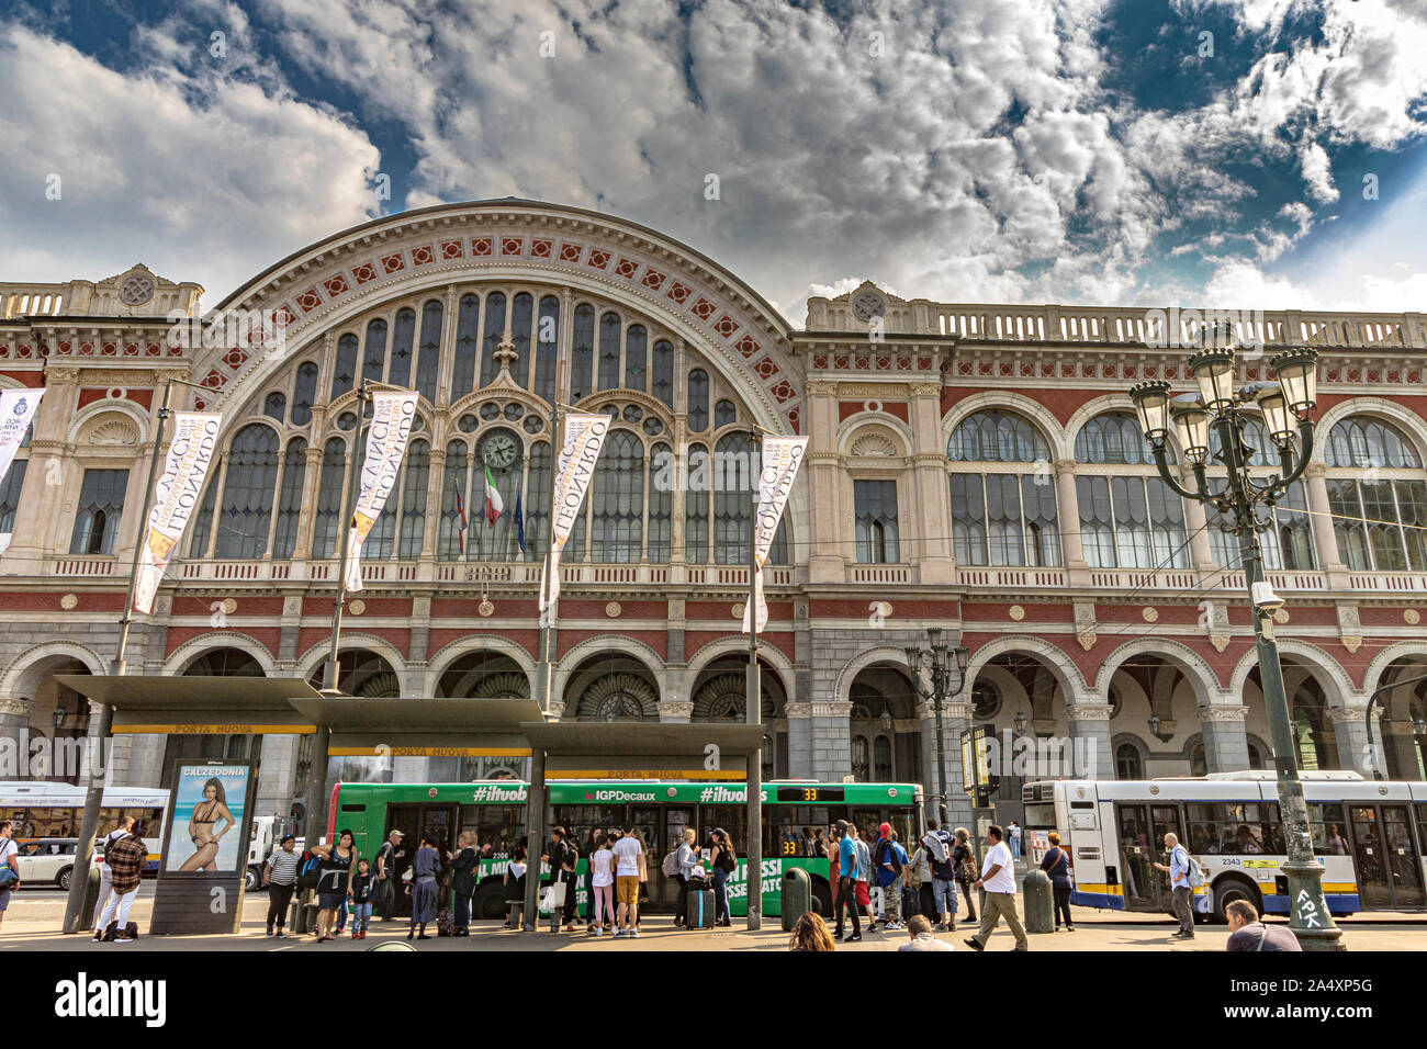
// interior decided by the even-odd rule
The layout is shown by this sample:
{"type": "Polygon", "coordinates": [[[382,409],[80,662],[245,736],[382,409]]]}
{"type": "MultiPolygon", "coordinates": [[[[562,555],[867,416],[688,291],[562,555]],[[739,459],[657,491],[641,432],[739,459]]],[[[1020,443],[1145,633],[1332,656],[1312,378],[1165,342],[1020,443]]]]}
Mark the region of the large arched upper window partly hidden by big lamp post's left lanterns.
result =
{"type": "Polygon", "coordinates": [[[1075,441],[1076,461],[1142,467],[1127,474],[1079,474],[1080,542],[1092,568],[1187,568],[1184,504],[1160,481],[1130,412],[1099,415],[1075,441]]]}

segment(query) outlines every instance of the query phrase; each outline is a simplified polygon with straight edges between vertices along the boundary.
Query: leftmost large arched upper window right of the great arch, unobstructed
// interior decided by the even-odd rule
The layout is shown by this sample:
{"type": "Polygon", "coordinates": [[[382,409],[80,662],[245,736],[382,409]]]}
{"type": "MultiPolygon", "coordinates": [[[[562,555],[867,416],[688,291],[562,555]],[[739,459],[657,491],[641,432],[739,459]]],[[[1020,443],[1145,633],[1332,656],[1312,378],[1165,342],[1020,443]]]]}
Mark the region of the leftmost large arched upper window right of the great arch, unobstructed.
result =
{"type": "Polygon", "coordinates": [[[979,411],[946,444],[952,545],[963,565],[1059,565],[1050,448],[1020,415],[979,411]],[[996,472],[975,464],[1005,464],[996,472]]]}

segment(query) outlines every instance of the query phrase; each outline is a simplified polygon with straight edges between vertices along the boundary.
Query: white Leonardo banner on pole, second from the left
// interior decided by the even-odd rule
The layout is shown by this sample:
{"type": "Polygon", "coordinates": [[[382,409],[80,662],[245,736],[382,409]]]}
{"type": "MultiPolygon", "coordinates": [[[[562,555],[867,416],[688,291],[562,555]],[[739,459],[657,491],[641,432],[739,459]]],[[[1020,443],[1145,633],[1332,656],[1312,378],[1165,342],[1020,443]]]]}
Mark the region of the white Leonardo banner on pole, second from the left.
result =
{"type": "Polygon", "coordinates": [[[198,507],[221,421],[223,417],[217,412],[174,412],[174,437],[168,444],[164,470],[154,484],[154,505],[148,511],[148,527],[141,539],[144,548],[140,551],[138,581],[134,587],[136,612],[154,611],[154,597],[163,582],[164,568],[183,538],[188,518],[198,507]]]}

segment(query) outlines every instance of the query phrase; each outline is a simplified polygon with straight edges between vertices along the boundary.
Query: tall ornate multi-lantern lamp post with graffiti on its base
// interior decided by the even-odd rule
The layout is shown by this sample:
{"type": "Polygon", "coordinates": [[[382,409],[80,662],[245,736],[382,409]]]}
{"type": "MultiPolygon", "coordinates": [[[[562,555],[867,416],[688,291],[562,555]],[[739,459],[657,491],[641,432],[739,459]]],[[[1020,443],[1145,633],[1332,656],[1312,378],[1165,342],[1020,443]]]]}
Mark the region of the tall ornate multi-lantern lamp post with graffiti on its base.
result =
{"type": "Polygon", "coordinates": [[[1214,507],[1229,524],[1224,531],[1239,539],[1239,554],[1249,587],[1253,629],[1259,649],[1264,706],[1273,738],[1279,772],[1279,805],[1283,814],[1289,859],[1283,873],[1289,879],[1289,928],[1304,951],[1340,951],[1340,931],[1323,896],[1323,865],[1313,855],[1309,832],[1309,806],[1303,798],[1299,761],[1293,749],[1289,701],[1283,688],[1283,668],[1273,637],[1273,614],[1283,607],[1264,581],[1263,549],[1259,534],[1273,525],[1271,515],[1260,520],[1259,507],[1273,507],[1299,480],[1313,452],[1313,410],[1317,407],[1317,353],[1297,348],[1271,361],[1277,382],[1250,382],[1237,392],[1234,354],[1216,337],[1212,345],[1189,358],[1197,394],[1170,397],[1169,382],[1140,382],[1130,388],[1144,440],[1154,455],[1160,480],[1180,497],[1214,507]],[[1260,478],[1250,477],[1244,427],[1244,407],[1254,402],[1264,428],[1279,448],[1279,470],[1260,478]],[[1193,488],[1183,488],[1170,474],[1166,441],[1170,427],[1179,435],[1184,460],[1193,474],[1193,488]],[[1219,437],[1217,460],[1224,465],[1226,482],[1214,490],[1209,484],[1210,430],[1219,437]]]}

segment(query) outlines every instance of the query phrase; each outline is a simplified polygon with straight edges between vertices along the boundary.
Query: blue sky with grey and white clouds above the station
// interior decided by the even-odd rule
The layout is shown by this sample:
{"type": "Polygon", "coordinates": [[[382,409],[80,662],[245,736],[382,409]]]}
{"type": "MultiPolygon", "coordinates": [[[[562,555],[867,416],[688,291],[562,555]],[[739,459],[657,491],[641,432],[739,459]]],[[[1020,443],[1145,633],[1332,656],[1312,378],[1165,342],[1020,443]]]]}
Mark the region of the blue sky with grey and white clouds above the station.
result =
{"type": "Polygon", "coordinates": [[[0,280],[144,261],[213,307],[354,223],[517,196],[684,240],[795,323],[863,278],[1427,310],[1424,0],[0,7],[0,280]]]}

